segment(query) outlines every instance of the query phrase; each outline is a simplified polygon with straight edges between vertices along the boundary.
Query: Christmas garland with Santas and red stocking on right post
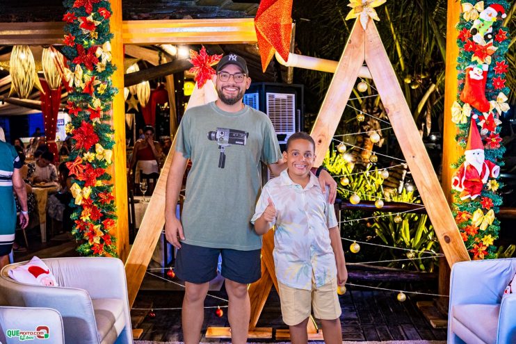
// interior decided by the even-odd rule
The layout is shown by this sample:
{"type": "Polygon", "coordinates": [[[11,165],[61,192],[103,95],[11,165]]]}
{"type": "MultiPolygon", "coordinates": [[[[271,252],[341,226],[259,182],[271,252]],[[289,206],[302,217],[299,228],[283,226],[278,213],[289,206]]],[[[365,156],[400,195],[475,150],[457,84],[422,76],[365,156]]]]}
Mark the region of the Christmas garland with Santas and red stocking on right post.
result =
{"type": "Polygon", "coordinates": [[[485,162],[483,170],[476,169],[476,180],[471,177],[476,172],[471,170],[471,165],[469,170],[467,167],[473,158],[462,155],[452,165],[459,168],[453,177],[453,215],[473,259],[491,259],[496,257],[493,244],[500,230],[500,222],[494,214],[502,204],[497,192],[503,185],[497,181],[497,171],[503,166],[501,158],[506,151],[501,147],[499,117],[509,109],[506,103],[510,90],[505,85],[508,67],[505,55],[510,38],[508,28],[503,26],[503,18],[510,6],[504,0],[462,0],[461,6],[462,14],[457,25],[458,97],[453,104],[452,121],[458,129],[455,139],[466,151],[474,147],[471,137],[478,138],[478,129],[481,138],[478,142],[481,142],[485,162]]]}

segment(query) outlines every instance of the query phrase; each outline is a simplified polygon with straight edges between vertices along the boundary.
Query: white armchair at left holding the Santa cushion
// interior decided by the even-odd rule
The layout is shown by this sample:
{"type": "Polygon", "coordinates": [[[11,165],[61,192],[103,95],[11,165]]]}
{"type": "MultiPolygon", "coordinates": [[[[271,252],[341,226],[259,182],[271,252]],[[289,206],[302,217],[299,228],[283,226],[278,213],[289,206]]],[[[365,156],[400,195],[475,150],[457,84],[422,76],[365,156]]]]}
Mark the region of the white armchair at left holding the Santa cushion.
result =
{"type": "Polygon", "coordinates": [[[66,343],[133,343],[127,281],[120,259],[74,257],[42,261],[59,286],[19,283],[8,276],[8,270],[26,262],[10,264],[0,272],[0,304],[56,309],[63,318],[66,343]]]}

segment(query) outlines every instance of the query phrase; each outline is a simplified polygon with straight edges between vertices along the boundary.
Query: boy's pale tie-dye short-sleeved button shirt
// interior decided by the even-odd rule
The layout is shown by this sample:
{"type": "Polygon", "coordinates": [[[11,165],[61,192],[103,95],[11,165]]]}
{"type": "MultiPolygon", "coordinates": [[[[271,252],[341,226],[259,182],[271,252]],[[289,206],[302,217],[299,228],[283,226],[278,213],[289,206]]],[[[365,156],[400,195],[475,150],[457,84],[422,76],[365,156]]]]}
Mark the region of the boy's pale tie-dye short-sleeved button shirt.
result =
{"type": "Polygon", "coordinates": [[[273,256],[278,281],[311,290],[312,278],[320,287],[336,277],[328,228],[337,226],[337,218],[328,203],[328,192],[323,194],[314,174],[310,173],[305,188],[294,183],[287,170],[268,181],[261,190],[253,224],[264,213],[269,197],[276,208],[271,225],[275,224],[273,256]]]}

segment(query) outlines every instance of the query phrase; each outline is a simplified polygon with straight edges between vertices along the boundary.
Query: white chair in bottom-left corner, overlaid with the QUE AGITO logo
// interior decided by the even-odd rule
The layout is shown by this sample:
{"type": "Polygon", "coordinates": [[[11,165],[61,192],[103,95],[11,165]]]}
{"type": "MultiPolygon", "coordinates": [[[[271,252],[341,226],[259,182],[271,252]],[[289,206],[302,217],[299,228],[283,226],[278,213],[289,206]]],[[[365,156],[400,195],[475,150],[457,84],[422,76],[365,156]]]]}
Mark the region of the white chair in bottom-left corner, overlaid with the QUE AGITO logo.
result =
{"type": "Polygon", "coordinates": [[[0,306],[0,343],[27,342],[65,344],[61,314],[55,309],[49,308],[0,306]],[[41,331],[42,335],[35,336],[31,341],[23,341],[19,336],[8,336],[8,330],[17,329],[41,331]]]}

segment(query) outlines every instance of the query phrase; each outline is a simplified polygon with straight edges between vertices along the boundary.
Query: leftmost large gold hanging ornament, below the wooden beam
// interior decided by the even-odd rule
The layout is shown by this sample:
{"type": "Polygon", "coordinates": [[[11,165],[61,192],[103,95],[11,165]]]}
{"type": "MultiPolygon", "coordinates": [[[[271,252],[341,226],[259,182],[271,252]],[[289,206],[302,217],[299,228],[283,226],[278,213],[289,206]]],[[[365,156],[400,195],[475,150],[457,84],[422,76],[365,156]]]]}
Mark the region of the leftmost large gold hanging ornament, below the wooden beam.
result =
{"type": "Polygon", "coordinates": [[[17,93],[20,98],[29,98],[33,86],[45,94],[35,68],[34,56],[28,45],[15,45],[10,53],[9,73],[11,76],[9,96],[17,93]]]}

